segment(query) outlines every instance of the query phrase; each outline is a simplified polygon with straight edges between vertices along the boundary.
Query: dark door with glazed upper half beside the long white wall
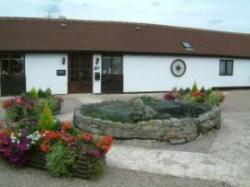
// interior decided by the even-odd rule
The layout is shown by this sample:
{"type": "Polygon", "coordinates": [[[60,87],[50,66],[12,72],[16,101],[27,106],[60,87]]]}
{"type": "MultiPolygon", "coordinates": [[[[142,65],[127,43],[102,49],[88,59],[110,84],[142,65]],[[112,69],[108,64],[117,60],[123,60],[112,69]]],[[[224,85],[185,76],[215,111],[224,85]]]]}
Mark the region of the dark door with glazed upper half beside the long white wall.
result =
{"type": "Polygon", "coordinates": [[[122,56],[103,56],[101,88],[102,93],[123,92],[122,56]]]}

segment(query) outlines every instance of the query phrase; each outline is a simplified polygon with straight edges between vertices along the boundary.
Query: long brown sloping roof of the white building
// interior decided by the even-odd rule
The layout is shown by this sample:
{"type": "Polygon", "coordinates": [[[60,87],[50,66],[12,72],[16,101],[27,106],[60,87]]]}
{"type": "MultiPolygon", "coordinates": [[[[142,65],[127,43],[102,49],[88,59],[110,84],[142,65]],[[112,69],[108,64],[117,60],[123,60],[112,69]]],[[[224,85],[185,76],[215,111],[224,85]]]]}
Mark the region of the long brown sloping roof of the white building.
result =
{"type": "Polygon", "coordinates": [[[0,51],[98,51],[250,58],[250,34],[153,24],[0,18],[0,51]],[[188,42],[193,50],[184,49],[188,42]]]}

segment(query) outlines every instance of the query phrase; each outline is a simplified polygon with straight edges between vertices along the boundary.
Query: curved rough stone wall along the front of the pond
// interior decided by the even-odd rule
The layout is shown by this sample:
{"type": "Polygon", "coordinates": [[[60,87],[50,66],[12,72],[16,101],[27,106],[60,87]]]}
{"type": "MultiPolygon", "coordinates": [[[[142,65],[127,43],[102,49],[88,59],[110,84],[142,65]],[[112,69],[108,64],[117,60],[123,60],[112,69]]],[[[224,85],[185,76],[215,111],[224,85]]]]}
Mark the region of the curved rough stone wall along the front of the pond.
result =
{"type": "Polygon", "coordinates": [[[199,134],[219,129],[220,108],[213,107],[211,111],[201,114],[197,118],[170,118],[138,123],[121,123],[91,118],[84,116],[80,109],[76,108],[74,124],[82,131],[112,135],[119,139],[154,139],[168,141],[171,144],[182,144],[196,139],[199,134]]]}

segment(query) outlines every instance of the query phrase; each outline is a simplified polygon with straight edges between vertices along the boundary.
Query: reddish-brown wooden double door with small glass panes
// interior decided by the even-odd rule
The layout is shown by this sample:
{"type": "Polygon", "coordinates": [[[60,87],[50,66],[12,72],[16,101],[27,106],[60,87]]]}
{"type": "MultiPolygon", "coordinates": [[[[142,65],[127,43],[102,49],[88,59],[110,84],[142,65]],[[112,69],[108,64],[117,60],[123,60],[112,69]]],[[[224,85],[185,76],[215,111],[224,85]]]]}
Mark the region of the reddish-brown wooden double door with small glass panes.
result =
{"type": "Polygon", "coordinates": [[[69,93],[92,92],[92,55],[69,56],[69,93]]]}

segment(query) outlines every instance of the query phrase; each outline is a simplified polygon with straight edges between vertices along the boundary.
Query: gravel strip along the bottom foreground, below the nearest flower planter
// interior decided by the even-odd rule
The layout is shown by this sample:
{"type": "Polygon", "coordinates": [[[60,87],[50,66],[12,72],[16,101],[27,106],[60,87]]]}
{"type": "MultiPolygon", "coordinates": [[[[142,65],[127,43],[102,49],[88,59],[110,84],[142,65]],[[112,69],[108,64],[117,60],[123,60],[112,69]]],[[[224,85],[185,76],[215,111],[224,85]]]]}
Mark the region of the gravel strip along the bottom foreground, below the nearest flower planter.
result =
{"type": "Polygon", "coordinates": [[[53,178],[47,172],[25,168],[15,169],[0,161],[1,187],[230,187],[229,185],[200,179],[157,175],[108,167],[106,174],[86,181],[75,178],[53,178]]]}

